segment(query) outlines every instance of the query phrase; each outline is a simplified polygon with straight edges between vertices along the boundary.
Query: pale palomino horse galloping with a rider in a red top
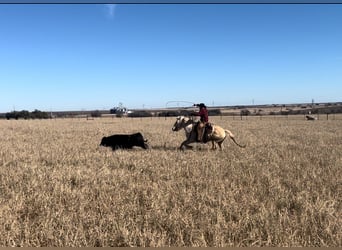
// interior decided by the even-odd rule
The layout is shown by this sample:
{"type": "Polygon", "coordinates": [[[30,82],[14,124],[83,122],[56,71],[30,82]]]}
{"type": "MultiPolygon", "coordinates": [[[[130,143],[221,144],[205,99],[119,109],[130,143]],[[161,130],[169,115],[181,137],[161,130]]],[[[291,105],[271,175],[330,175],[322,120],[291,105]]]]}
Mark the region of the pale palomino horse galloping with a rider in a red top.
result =
{"type": "MultiPolygon", "coordinates": [[[[182,142],[180,145],[180,149],[183,149],[183,146],[186,148],[192,148],[189,144],[193,142],[197,142],[196,135],[196,121],[190,119],[185,116],[178,116],[175,124],[172,127],[172,131],[179,131],[180,129],[185,130],[186,140],[182,142]]],[[[232,141],[241,148],[246,147],[246,145],[240,145],[235,141],[234,135],[227,129],[223,129],[220,126],[212,124],[212,132],[208,134],[208,141],[212,142],[212,149],[216,149],[215,142],[219,145],[222,150],[222,143],[224,139],[226,139],[227,135],[232,139],[232,141]]]]}

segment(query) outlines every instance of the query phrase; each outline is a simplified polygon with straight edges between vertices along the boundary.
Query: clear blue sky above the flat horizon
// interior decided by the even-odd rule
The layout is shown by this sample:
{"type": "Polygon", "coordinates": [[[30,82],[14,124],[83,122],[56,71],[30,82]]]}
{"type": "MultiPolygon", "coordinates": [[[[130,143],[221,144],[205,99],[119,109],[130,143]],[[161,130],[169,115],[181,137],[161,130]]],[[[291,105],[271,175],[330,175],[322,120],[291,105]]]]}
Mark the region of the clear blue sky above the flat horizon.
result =
{"type": "Polygon", "coordinates": [[[342,101],[342,5],[0,4],[0,112],[312,99],[342,101]]]}

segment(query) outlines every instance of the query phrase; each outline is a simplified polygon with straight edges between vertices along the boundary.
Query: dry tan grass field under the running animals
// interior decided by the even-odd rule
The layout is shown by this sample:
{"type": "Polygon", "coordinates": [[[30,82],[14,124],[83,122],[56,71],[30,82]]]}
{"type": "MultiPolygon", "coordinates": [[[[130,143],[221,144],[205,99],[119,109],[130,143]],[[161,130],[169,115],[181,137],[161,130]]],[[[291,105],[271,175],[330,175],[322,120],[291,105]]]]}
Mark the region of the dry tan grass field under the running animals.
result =
{"type": "Polygon", "coordinates": [[[211,117],[247,144],[222,152],[177,150],[175,118],[0,120],[0,246],[341,247],[337,118],[211,117]]]}

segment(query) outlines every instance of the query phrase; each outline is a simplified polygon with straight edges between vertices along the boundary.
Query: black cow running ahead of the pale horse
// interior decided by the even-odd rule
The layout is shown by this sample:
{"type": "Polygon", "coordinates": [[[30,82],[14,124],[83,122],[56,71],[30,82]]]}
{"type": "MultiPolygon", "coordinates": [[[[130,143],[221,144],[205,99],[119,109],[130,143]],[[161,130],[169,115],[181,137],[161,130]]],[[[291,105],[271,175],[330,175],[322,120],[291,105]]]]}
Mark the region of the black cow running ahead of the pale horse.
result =
{"type": "Polygon", "coordinates": [[[119,134],[103,137],[100,146],[111,147],[113,150],[131,149],[134,146],[148,149],[149,146],[146,144],[147,140],[144,139],[141,133],[135,134],[119,134]]]}

